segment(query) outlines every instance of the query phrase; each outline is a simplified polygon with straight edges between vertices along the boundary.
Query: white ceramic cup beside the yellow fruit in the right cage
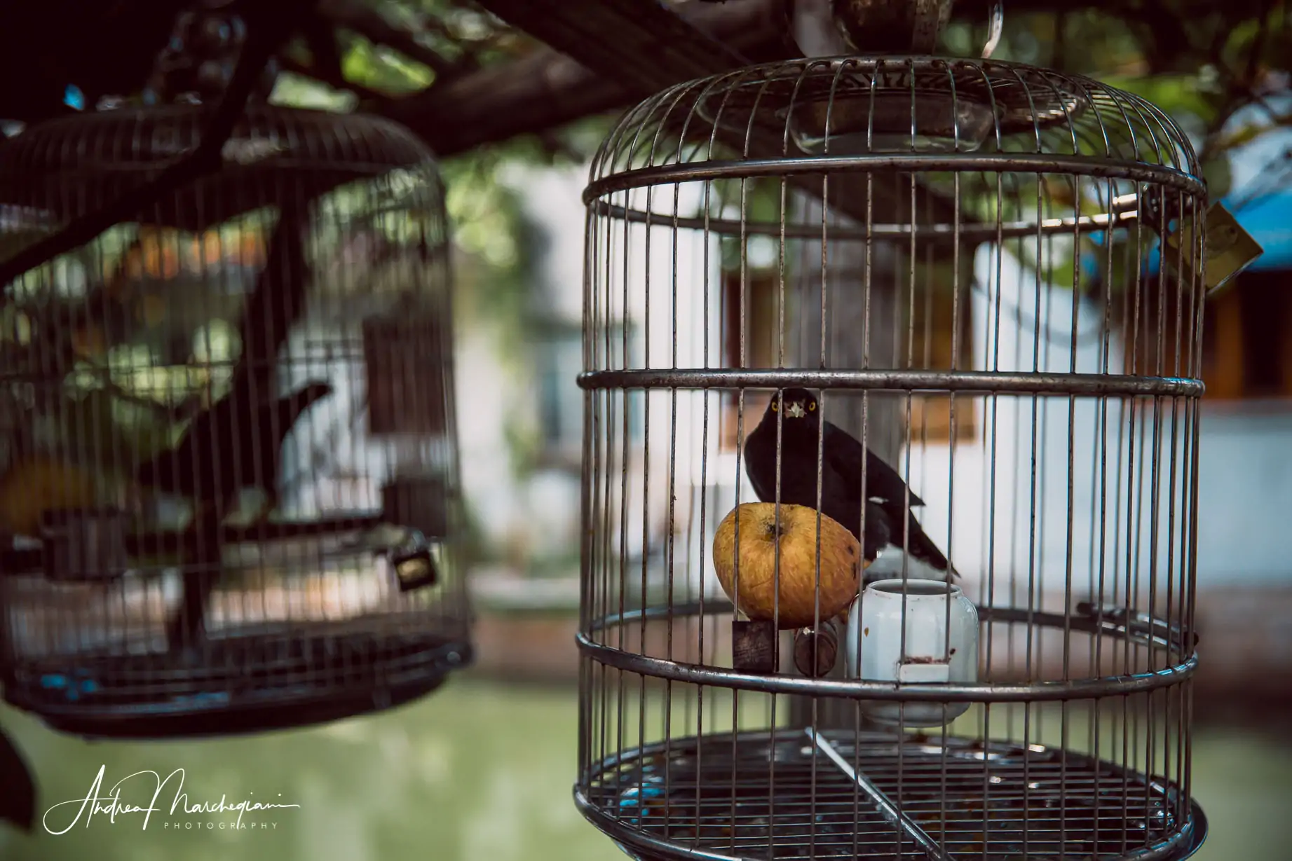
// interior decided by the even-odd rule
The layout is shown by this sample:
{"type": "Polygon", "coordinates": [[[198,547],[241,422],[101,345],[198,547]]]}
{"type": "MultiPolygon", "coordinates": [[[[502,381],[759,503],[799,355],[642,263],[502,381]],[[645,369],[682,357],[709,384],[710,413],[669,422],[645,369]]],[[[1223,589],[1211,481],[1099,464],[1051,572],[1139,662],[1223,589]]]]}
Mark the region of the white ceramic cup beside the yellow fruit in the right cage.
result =
{"type": "MultiPolygon", "coordinates": [[[[955,585],[932,580],[876,581],[849,611],[845,656],[848,675],[867,682],[977,682],[978,609],[955,585]]],[[[867,700],[860,707],[884,724],[941,727],[968,711],[969,704],[867,700]]]]}

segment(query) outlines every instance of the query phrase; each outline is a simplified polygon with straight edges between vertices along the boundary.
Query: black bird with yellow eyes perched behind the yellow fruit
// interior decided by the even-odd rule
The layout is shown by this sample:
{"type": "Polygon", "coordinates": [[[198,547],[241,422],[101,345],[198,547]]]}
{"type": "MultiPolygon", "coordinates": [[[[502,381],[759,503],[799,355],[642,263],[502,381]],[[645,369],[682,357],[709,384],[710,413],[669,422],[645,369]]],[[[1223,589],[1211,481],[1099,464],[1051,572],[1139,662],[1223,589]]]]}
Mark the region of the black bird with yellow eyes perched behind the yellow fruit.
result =
{"type": "MultiPolygon", "coordinates": [[[[902,547],[911,556],[937,571],[947,571],[947,558],[925,534],[910,506],[924,505],[915,493],[907,500],[906,481],[873,452],[848,431],[822,422],[817,398],[805,389],[786,389],[771,396],[762,421],[744,440],[744,470],[758,498],[776,500],[776,413],[784,403],[780,421],[780,501],[817,507],[817,436],[822,432],[820,512],[833,518],[859,541],[862,500],[866,500],[866,540],[862,552],[873,560],[886,546],[902,547]],[[866,484],[862,492],[862,456],[866,456],[866,484]],[[902,520],[907,534],[903,536],[902,520]]],[[[955,574],[955,571],[951,571],[955,574]]]]}

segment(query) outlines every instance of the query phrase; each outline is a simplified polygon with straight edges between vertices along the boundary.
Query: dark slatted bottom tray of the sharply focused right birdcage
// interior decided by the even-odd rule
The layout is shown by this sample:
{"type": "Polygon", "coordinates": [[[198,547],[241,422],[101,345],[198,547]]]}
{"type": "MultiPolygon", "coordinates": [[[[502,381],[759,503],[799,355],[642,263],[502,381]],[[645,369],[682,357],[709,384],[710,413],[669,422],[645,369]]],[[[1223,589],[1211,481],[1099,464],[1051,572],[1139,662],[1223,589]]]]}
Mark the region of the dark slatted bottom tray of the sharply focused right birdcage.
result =
{"type": "Polygon", "coordinates": [[[1205,836],[1178,789],[1039,745],[804,729],[624,751],[575,800],[628,855],[672,858],[1187,858],[1205,836]],[[886,820],[829,746],[932,840],[886,820]],[[815,791],[813,786],[815,785],[815,791]],[[1189,809],[1187,818],[1177,811],[1189,809]],[[899,842],[901,834],[901,842],[899,842]]]}

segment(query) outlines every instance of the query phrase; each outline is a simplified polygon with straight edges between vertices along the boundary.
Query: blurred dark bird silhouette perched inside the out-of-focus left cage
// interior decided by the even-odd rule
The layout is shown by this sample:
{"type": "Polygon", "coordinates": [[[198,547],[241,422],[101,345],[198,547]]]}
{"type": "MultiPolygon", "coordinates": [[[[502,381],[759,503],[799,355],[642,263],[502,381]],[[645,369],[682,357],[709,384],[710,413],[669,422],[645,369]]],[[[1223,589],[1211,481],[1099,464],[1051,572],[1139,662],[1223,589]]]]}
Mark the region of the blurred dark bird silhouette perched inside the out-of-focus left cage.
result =
{"type": "Polygon", "coordinates": [[[266,512],[278,505],[278,469],[283,439],[301,413],[332,394],[326,382],[256,404],[247,387],[234,390],[199,413],[180,445],[156,454],[136,471],[136,480],[165,493],[178,493],[199,505],[227,503],[244,487],[269,494],[266,512]]]}

